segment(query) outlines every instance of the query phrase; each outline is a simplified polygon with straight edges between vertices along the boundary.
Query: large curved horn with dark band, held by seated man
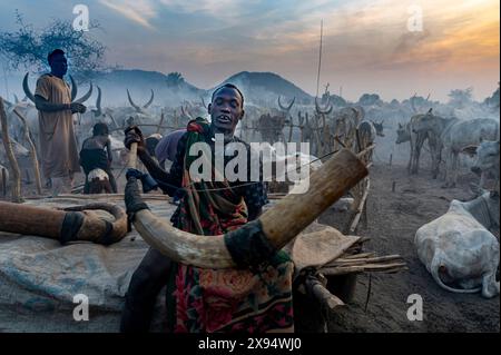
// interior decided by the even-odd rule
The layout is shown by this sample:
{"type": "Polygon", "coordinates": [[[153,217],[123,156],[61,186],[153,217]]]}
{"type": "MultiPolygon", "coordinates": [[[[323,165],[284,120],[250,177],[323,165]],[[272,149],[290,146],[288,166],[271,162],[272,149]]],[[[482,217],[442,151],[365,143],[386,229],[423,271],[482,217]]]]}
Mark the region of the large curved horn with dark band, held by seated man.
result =
{"type": "Polygon", "coordinates": [[[284,247],[367,174],[353,152],[342,149],[311,175],[306,194],[287,195],[259,219],[226,235],[183,231],[148,209],[136,214],[134,226],[150,246],[177,263],[204,268],[252,265],[284,247]]]}

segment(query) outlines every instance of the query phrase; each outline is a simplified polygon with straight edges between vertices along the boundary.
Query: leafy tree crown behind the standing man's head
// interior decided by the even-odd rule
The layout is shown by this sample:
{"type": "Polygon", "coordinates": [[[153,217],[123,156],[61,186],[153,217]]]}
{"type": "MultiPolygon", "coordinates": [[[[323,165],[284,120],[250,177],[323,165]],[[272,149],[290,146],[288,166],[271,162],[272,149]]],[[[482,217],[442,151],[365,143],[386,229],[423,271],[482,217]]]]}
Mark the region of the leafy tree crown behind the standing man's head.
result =
{"type": "MultiPolygon", "coordinates": [[[[37,30],[32,24],[26,24],[18,11],[16,17],[19,29],[0,32],[0,55],[7,59],[11,69],[45,71],[48,66],[47,55],[56,48],[66,52],[69,71],[79,80],[90,79],[105,69],[106,47],[92,39],[89,32],[73,30],[71,21],[56,19],[37,30]]],[[[98,22],[89,23],[89,30],[98,28],[98,22]]]]}

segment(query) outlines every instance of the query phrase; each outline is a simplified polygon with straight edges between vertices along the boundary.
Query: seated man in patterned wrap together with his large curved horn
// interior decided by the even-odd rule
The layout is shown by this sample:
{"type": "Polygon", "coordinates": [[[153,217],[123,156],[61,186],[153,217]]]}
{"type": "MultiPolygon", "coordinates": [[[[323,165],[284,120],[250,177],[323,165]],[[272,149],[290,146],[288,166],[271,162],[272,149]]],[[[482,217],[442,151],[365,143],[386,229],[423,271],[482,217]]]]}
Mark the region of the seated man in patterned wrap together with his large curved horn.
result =
{"type": "MultiPolygon", "coordinates": [[[[127,214],[154,248],[132,275],[122,332],[148,331],[156,296],[167,282],[170,331],[293,329],[293,264],[279,249],[367,171],[355,156],[342,151],[337,160],[312,176],[316,190],[307,200],[305,195],[289,195],[259,217],[266,200],[262,181],[195,180],[189,170],[195,159],[187,152],[194,145],[205,142],[214,149],[216,134],[224,135],[225,145],[243,142],[234,136],[244,117],[243,103],[235,86],[216,89],[207,108],[212,122],[198,118],[188,124],[169,172],[148,155],[138,129],[126,131],[126,147],[137,142],[138,157],[160,187],[171,196],[179,189],[184,195],[173,227],[155,217],[140,199],[138,172],[127,174],[127,214]],[[332,174],[340,177],[338,183],[328,181],[332,174]]],[[[225,157],[225,164],[230,158],[225,157]]],[[[212,172],[212,177],[218,174],[214,164],[212,172]]]]}

